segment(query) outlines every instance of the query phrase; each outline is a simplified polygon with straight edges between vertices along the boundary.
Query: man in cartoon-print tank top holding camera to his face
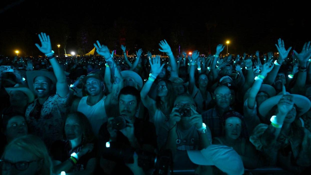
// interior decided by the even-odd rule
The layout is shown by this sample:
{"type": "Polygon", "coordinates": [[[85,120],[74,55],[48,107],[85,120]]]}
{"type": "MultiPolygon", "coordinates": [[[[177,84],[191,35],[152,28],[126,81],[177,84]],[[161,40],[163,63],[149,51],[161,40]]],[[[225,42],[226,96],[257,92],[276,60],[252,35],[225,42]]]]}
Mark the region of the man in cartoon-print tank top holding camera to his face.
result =
{"type": "Polygon", "coordinates": [[[174,169],[193,169],[187,150],[201,150],[211,144],[211,131],[197,113],[189,94],[179,95],[166,125],[160,128],[158,145],[173,153],[174,169]]]}

